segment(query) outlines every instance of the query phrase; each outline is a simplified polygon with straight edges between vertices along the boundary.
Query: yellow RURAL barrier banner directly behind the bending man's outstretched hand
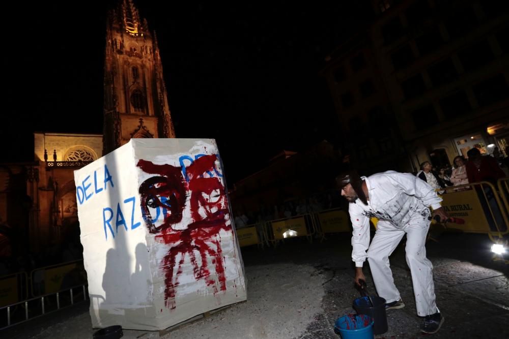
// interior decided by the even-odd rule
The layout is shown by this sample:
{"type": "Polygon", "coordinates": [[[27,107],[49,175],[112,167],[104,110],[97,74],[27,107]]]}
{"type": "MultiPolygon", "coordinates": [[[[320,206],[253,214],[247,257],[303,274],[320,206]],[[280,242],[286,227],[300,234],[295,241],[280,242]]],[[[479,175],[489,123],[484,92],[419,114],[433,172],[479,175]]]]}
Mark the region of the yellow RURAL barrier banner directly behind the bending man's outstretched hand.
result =
{"type": "Polygon", "coordinates": [[[465,220],[464,225],[447,223],[448,229],[459,229],[468,233],[488,233],[490,226],[475,190],[442,195],[442,207],[450,217],[465,220]]]}

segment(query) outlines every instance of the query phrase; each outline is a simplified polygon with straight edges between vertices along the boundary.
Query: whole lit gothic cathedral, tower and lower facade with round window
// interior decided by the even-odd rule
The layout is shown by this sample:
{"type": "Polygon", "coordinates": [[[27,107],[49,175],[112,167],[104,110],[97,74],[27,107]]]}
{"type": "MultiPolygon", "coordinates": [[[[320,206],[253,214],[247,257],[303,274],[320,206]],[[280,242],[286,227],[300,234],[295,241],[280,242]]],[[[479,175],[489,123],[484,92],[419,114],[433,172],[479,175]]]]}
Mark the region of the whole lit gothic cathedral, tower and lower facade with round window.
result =
{"type": "Polygon", "coordinates": [[[22,239],[12,252],[75,238],[75,169],[131,138],[175,137],[157,39],[132,0],[110,10],[105,40],[103,135],[34,133],[33,162],[0,164],[0,224],[22,239]]]}

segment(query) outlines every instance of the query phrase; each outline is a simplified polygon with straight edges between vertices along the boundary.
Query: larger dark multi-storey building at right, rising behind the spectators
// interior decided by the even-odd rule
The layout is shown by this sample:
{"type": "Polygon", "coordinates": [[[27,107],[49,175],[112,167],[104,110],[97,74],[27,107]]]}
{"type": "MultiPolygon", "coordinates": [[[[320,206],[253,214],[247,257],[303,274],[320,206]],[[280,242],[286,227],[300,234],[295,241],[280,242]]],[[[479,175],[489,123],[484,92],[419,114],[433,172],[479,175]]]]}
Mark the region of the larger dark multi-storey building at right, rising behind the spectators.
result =
{"type": "MultiPolygon", "coordinates": [[[[450,166],[468,149],[507,152],[509,5],[494,1],[373,1],[363,48],[415,170],[450,166]],[[375,74],[375,73],[374,73],[375,74]]],[[[332,62],[332,60],[331,60],[332,62]]],[[[330,82],[329,82],[330,85],[330,82]]],[[[342,109],[340,114],[346,114],[342,109]]],[[[384,135],[380,126],[375,135],[384,135]]],[[[378,154],[376,156],[379,156],[378,154]]]]}

